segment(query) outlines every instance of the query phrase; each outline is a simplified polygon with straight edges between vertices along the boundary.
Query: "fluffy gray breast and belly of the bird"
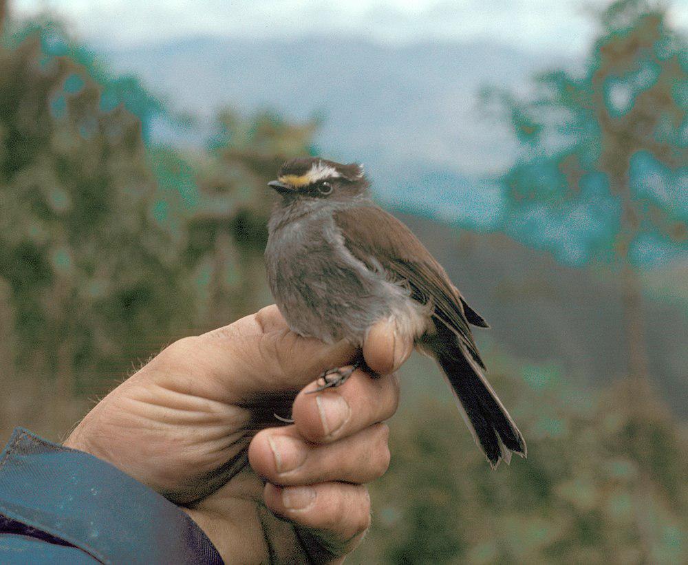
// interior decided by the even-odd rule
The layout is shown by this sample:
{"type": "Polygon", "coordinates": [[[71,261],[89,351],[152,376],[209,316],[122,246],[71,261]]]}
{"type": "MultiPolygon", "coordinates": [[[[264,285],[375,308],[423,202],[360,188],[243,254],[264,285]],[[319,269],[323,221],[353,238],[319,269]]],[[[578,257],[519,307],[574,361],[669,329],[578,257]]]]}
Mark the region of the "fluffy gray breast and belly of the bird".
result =
{"type": "Polygon", "coordinates": [[[328,237],[324,223],[294,222],[270,234],[270,289],[294,332],[361,345],[367,328],[409,299],[405,290],[354,259],[336,237],[328,237]]]}

